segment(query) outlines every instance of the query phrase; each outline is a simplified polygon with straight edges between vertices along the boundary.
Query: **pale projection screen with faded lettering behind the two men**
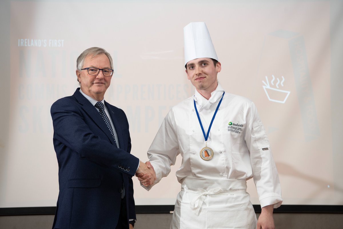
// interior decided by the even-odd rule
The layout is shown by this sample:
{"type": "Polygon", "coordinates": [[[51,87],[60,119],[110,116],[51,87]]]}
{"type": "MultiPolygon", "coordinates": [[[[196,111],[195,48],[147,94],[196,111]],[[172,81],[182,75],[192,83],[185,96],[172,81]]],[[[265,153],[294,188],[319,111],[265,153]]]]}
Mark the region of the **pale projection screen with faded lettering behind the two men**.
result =
{"type": "MultiPolygon", "coordinates": [[[[56,206],[58,164],[50,106],[72,95],[76,58],[113,57],[105,100],[123,109],[131,153],[146,151],[169,109],[194,94],[183,27],[208,26],[232,94],[255,102],[285,205],[343,205],[341,1],[2,1],[0,208],[56,206]],[[93,31],[93,32],[91,32],[93,31]],[[94,32],[95,31],[95,32],[94,32]]],[[[175,171],[136,205],[174,205],[175,171]]],[[[259,204],[248,181],[251,202],[259,204]]]]}

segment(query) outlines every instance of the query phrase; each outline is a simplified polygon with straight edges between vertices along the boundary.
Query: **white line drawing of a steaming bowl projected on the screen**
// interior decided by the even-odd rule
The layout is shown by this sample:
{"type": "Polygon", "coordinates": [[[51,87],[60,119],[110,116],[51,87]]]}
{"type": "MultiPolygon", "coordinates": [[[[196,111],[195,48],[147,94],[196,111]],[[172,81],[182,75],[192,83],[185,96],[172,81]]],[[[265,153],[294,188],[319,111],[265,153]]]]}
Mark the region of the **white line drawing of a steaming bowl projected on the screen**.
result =
{"type": "Polygon", "coordinates": [[[282,76],[281,81],[279,78],[276,78],[277,80],[276,85],[274,85],[275,76],[272,75],[272,78],[273,79],[270,81],[270,83],[272,84],[273,87],[270,86],[267,76],[265,76],[265,80],[267,81],[267,83],[262,80],[262,83],[264,84],[262,87],[265,94],[268,97],[268,100],[277,102],[277,103],[285,103],[290,91],[284,91],[284,90],[279,89],[279,84],[281,84],[281,86],[283,87],[283,82],[285,82],[285,78],[282,76]]]}

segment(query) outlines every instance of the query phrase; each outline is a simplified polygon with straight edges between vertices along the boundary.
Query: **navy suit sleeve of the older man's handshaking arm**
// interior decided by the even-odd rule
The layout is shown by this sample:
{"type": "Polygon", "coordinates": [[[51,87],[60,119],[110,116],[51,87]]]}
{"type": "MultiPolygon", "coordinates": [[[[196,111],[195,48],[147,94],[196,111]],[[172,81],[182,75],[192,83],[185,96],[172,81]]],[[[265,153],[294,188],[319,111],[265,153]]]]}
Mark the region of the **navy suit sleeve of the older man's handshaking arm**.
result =
{"type": "Polygon", "coordinates": [[[57,157],[63,153],[64,147],[68,147],[78,153],[81,158],[87,158],[100,166],[116,169],[133,176],[139,159],[128,153],[131,149],[131,142],[129,142],[127,152],[112,145],[108,140],[101,139],[86,124],[81,109],[75,101],[67,98],[52,104],[50,112],[57,157]]]}

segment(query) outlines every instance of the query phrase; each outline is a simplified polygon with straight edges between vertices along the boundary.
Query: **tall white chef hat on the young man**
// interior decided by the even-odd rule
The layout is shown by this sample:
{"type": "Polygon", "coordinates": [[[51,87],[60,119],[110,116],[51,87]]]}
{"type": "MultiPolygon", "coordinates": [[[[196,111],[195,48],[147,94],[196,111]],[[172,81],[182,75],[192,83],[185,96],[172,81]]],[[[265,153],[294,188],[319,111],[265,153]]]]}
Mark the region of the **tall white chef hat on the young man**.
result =
{"type": "Polygon", "coordinates": [[[218,60],[205,22],[191,22],[184,27],[185,65],[197,58],[218,60]]]}

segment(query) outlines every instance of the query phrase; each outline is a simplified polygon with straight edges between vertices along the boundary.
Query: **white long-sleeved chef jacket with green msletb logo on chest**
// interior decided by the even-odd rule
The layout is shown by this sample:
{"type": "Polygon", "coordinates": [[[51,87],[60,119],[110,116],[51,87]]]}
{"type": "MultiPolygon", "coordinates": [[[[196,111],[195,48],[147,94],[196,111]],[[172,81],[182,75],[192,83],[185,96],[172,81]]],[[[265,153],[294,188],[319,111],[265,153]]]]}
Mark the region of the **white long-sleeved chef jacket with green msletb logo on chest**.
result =
{"type": "Polygon", "coordinates": [[[207,133],[223,92],[218,83],[211,98],[206,100],[196,90],[194,96],[169,111],[147,153],[155,169],[156,180],[145,188],[150,190],[167,176],[170,166],[181,154],[182,164],[176,172],[180,183],[186,177],[224,180],[253,178],[261,207],[273,204],[277,208],[282,203],[279,176],[268,137],[251,100],[227,92],[224,94],[207,140],[214,156],[208,161],[200,157],[205,139],[193,100],[207,133]]]}

